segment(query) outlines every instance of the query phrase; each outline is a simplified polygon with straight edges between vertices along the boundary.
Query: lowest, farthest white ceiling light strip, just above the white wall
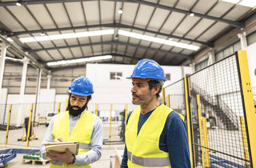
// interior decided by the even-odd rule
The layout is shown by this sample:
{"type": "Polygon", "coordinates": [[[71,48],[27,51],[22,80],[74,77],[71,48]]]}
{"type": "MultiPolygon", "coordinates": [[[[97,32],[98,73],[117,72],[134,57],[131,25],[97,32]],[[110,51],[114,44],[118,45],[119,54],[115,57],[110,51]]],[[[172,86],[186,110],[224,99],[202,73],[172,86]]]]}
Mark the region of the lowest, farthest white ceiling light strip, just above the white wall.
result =
{"type": "Polygon", "coordinates": [[[54,62],[48,62],[48,66],[55,66],[55,65],[63,65],[63,64],[76,64],[81,62],[91,62],[91,61],[97,61],[97,60],[107,60],[111,59],[112,56],[106,55],[106,56],[95,56],[90,58],[78,58],[74,60],[61,60],[61,61],[54,61],[54,62]]]}

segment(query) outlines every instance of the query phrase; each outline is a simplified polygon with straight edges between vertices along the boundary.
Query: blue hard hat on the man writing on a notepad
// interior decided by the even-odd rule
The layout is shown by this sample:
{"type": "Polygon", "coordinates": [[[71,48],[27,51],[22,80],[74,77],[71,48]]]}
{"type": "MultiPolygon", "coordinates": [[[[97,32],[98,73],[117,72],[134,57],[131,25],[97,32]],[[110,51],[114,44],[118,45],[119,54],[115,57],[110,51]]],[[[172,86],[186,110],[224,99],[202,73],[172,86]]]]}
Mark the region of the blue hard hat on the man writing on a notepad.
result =
{"type": "Polygon", "coordinates": [[[79,77],[71,83],[68,91],[76,95],[90,96],[94,93],[93,83],[86,77],[79,77]]]}

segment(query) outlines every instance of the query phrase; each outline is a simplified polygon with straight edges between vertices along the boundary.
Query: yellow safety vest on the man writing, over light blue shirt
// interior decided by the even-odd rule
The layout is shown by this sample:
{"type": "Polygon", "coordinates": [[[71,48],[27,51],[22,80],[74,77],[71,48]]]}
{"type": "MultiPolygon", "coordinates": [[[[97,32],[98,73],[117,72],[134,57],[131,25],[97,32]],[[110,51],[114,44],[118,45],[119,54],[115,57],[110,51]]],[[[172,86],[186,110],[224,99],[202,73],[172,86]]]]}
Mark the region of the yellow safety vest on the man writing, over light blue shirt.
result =
{"type": "MultiPolygon", "coordinates": [[[[93,132],[95,118],[95,114],[88,111],[84,112],[69,136],[69,111],[65,111],[58,114],[57,118],[55,119],[52,127],[52,135],[54,136],[54,139],[58,138],[60,135],[65,141],[78,141],[78,154],[82,154],[91,149],[91,134],[93,132]]],[[[68,165],[67,163],[62,163],[59,161],[52,161],[50,163],[50,168],[61,167],[91,168],[91,165],[68,165]]]]}

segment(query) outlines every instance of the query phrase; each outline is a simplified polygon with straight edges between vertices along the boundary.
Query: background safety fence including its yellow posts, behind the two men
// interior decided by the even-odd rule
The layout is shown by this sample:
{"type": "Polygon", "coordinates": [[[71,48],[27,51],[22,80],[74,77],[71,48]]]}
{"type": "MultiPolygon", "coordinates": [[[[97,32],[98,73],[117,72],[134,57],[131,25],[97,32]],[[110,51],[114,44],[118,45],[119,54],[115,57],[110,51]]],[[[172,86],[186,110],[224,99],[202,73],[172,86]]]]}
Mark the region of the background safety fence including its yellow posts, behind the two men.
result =
{"type": "MultiPolygon", "coordinates": [[[[7,146],[8,134],[10,130],[17,129],[16,138],[20,138],[23,141],[30,138],[32,140],[37,136],[37,126],[46,125],[50,123],[50,120],[54,114],[64,112],[67,108],[66,102],[55,103],[37,103],[35,109],[35,103],[31,104],[0,104],[1,117],[0,117],[0,131],[5,131],[5,140],[2,139],[0,144],[7,146]],[[26,129],[25,129],[26,127],[26,129]],[[18,129],[22,128],[22,129],[18,129]],[[24,130],[25,129],[25,130],[24,130]],[[30,135],[27,137],[26,135],[30,135]],[[21,136],[21,137],[18,137],[21,136]]],[[[135,109],[133,104],[107,104],[107,103],[89,103],[88,110],[96,114],[103,121],[103,142],[105,144],[123,144],[125,142],[125,128],[127,114],[131,110],[135,109]]],[[[13,144],[11,142],[11,144],[13,144]]],[[[23,146],[29,146],[23,144],[23,146]]]]}

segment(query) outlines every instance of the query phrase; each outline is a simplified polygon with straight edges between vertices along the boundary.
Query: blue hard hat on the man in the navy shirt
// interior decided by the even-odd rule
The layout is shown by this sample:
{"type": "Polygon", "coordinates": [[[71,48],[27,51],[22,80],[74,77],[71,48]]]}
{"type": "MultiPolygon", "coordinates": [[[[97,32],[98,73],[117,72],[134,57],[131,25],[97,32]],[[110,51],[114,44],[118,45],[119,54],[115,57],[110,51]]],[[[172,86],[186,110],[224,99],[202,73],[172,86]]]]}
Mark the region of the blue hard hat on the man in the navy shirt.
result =
{"type": "Polygon", "coordinates": [[[135,65],[133,73],[128,79],[131,78],[147,78],[166,81],[163,68],[161,68],[161,66],[157,62],[150,59],[140,60],[135,65]]]}

